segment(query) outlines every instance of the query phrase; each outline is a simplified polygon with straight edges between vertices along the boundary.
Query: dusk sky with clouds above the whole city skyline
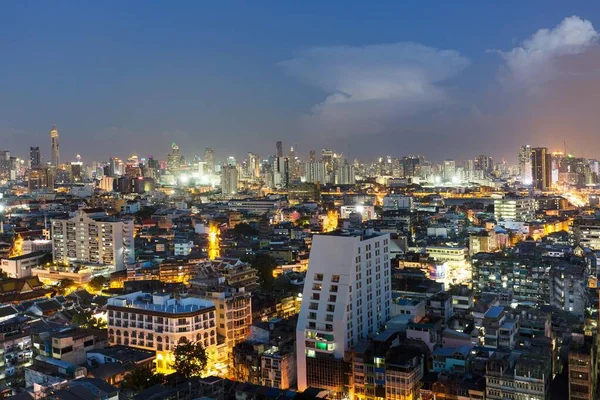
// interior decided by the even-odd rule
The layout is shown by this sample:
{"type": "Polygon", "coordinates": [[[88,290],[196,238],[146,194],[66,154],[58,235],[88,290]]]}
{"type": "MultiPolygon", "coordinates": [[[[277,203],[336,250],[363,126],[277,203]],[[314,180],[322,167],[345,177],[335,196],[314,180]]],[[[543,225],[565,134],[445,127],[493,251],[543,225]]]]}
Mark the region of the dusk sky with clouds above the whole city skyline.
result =
{"type": "Polygon", "coordinates": [[[594,1],[3,1],[0,139],[26,157],[600,157],[594,1]],[[381,3],[381,4],[378,4],[381,3]],[[386,3],[386,4],[383,4],[386,3]],[[389,3],[389,4],[388,4],[389,3]]]}

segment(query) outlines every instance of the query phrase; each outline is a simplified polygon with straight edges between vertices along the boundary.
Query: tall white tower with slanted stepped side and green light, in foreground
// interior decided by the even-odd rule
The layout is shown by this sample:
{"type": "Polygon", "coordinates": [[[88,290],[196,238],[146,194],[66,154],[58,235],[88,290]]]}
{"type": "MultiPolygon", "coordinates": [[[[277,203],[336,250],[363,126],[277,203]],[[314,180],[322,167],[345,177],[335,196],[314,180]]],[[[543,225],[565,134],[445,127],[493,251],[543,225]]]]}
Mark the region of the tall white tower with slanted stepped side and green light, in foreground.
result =
{"type": "Polygon", "coordinates": [[[389,240],[370,230],[313,236],[296,326],[300,391],[347,392],[344,356],[390,315],[389,240]]]}

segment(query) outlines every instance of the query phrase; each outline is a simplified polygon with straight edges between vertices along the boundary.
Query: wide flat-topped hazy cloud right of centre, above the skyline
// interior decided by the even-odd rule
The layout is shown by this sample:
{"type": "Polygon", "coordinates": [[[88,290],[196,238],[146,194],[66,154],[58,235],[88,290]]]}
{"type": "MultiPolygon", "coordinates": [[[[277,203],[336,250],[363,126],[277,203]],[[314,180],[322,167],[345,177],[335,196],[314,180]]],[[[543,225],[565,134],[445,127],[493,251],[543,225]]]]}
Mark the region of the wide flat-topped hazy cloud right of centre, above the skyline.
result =
{"type": "Polygon", "coordinates": [[[314,133],[367,134],[449,100],[443,83],[469,65],[453,50],[402,42],[318,47],[280,65],[326,98],[306,118],[314,133]]]}

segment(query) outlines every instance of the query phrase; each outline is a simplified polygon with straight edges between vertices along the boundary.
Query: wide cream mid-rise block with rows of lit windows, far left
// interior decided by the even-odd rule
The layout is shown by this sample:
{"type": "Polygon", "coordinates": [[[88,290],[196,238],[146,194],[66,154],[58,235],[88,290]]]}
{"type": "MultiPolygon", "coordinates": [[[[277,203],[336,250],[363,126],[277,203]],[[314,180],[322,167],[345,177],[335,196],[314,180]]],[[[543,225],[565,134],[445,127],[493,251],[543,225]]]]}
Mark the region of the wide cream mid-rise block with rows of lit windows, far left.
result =
{"type": "Polygon", "coordinates": [[[60,264],[91,263],[120,271],[134,262],[133,220],[115,219],[96,209],[53,219],[52,258],[60,264]]]}

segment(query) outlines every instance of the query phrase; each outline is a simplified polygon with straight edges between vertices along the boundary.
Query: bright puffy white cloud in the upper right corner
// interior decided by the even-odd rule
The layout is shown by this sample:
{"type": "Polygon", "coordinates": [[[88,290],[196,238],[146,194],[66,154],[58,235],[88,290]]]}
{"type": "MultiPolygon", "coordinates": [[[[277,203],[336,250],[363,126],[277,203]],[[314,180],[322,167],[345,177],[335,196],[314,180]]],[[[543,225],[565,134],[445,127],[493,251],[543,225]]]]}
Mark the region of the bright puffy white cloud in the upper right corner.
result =
{"type": "Polygon", "coordinates": [[[519,47],[499,54],[506,63],[500,79],[507,85],[536,88],[565,72],[558,67],[562,56],[585,52],[596,43],[598,32],[592,23],[577,16],[565,18],[554,29],[540,29],[519,47]]]}

